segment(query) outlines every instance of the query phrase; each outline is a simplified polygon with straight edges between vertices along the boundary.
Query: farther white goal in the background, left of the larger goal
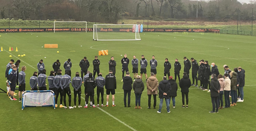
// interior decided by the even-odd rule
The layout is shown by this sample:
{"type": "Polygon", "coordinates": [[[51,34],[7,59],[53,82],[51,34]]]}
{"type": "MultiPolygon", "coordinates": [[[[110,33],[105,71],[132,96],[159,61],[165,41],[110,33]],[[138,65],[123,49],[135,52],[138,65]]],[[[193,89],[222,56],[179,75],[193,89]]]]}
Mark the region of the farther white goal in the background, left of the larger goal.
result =
{"type": "Polygon", "coordinates": [[[66,22],[66,21],[55,21],[54,22],[54,33],[55,31],[66,31],[63,28],[71,28],[70,31],[85,31],[87,33],[87,22],[66,22]]]}

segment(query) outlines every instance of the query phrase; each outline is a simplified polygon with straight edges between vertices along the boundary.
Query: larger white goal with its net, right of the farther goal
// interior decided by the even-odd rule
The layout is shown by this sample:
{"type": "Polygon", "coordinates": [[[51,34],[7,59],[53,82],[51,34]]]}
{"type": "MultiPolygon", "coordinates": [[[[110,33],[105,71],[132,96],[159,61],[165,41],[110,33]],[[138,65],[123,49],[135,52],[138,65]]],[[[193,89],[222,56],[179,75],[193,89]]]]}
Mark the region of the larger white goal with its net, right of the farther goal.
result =
{"type": "Polygon", "coordinates": [[[137,24],[93,24],[93,40],[131,41],[141,40],[137,24]]]}

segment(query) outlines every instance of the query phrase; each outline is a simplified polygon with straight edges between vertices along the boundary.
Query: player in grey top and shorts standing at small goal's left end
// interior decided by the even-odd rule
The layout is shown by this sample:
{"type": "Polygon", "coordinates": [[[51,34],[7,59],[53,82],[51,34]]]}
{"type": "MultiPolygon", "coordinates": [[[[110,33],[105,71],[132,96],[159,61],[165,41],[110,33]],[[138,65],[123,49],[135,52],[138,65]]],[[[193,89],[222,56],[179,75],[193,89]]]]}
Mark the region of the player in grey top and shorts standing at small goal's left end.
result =
{"type": "Polygon", "coordinates": [[[22,66],[22,71],[19,73],[19,102],[22,102],[20,98],[21,94],[26,90],[26,66],[22,66]],[[21,93],[21,94],[20,94],[21,93]]]}

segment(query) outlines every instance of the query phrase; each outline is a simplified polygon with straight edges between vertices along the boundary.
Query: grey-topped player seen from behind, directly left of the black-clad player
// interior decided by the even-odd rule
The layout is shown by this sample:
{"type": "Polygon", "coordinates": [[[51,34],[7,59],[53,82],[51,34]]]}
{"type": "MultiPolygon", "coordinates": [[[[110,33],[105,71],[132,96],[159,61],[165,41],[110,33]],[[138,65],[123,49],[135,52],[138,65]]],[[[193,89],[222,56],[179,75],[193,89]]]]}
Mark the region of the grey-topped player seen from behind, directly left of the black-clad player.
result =
{"type": "Polygon", "coordinates": [[[73,108],[76,108],[76,95],[78,94],[78,108],[81,106],[81,86],[82,86],[82,78],[79,77],[79,72],[76,72],[76,76],[72,79],[72,86],[74,88],[74,106],[73,108]]]}

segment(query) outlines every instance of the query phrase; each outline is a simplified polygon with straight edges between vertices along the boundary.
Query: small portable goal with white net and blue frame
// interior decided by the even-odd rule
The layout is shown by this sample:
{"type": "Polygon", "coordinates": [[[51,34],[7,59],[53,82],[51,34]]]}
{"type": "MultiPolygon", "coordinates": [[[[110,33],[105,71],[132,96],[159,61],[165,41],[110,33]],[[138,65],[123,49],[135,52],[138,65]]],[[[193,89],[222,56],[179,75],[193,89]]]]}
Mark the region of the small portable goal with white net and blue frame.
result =
{"type": "Polygon", "coordinates": [[[22,110],[24,107],[54,107],[54,92],[51,90],[24,91],[22,94],[22,110]]]}

